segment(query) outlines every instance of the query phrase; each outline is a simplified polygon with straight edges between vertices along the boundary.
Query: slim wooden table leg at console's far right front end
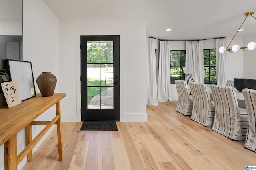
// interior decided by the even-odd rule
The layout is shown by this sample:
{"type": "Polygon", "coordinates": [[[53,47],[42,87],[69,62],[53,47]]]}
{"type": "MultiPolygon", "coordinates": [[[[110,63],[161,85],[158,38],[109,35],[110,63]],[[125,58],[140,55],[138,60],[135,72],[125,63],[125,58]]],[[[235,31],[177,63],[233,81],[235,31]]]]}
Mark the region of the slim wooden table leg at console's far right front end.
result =
{"type": "MultiPolygon", "coordinates": [[[[56,115],[60,116],[60,101],[56,103],[56,115]]],[[[59,161],[62,161],[63,160],[63,147],[62,147],[61,116],[57,120],[56,124],[57,124],[57,135],[58,135],[59,161]]]]}

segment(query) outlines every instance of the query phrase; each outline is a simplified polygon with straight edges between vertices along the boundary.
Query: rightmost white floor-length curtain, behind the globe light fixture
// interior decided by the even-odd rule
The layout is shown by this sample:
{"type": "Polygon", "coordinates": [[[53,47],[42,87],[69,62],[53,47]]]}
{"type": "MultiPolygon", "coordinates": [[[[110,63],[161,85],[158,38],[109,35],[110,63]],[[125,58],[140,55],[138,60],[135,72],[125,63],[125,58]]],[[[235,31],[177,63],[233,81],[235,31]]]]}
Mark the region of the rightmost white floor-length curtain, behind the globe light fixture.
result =
{"type": "Polygon", "coordinates": [[[227,82],[227,52],[219,52],[221,46],[226,47],[226,38],[216,39],[216,69],[217,69],[217,85],[226,86],[227,82]]]}

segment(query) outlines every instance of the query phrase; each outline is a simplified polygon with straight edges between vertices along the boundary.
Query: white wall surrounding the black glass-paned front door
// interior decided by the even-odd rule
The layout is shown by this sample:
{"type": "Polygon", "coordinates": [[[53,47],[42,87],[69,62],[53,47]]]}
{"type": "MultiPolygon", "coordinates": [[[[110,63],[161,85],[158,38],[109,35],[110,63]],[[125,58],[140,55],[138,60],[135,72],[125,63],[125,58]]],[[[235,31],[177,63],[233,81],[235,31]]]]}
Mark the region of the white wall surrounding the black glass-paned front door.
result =
{"type": "Polygon", "coordinates": [[[60,20],[62,121],[81,121],[80,35],[120,35],[120,121],[147,121],[146,22],[60,20]]]}

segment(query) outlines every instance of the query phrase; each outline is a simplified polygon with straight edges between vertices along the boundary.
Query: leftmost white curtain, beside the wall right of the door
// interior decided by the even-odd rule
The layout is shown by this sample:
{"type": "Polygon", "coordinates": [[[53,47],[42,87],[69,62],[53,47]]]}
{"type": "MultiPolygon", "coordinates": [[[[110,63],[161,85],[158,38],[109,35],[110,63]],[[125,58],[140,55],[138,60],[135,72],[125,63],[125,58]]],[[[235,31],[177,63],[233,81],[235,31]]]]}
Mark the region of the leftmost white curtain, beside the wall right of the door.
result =
{"type": "Polygon", "coordinates": [[[158,40],[149,38],[148,43],[148,105],[158,106],[156,80],[156,49],[158,49],[158,40]]]}

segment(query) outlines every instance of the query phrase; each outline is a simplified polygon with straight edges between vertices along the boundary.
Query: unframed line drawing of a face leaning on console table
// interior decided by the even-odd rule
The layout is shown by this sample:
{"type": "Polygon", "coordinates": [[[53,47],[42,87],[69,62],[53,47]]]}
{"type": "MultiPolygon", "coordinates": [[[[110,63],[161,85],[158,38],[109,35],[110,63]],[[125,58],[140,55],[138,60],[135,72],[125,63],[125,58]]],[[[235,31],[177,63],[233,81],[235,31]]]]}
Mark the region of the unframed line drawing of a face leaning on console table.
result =
{"type": "Polygon", "coordinates": [[[9,108],[21,103],[17,81],[1,83],[1,87],[9,108]]]}

